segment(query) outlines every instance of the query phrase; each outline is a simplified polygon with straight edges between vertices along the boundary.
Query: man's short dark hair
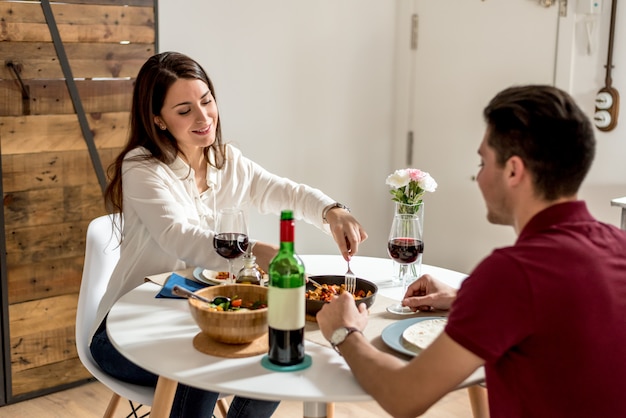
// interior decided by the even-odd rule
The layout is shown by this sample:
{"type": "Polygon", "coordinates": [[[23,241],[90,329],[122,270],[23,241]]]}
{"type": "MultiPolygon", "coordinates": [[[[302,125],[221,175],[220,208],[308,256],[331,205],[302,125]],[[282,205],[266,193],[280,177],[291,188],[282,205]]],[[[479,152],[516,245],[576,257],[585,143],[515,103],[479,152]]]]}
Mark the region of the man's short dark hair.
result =
{"type": "Polygon", "coordinates": [[[589,118],[569,94],[544,85],[511,87],[498,93],[483,115],[498,164],[520,157],[546,200],[578,192],[596,141],[589,118]]]}

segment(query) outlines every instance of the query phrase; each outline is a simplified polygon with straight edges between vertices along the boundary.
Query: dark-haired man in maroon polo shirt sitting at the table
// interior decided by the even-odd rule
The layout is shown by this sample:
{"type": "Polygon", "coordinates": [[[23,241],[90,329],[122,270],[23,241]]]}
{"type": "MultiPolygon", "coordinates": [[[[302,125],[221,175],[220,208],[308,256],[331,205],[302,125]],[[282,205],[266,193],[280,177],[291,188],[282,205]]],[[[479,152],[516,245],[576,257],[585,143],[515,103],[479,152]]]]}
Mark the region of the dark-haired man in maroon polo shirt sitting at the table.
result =
{"type": "Polygon", "coordinates": [[[451,308],[409,363],[342,330],[367,323],[350,295],[318,313],[322,333],[394,416],[424,413],[484,365],[492,418],[626,417],[626,233],[577,200],[593,127],[550,86],[506,89],[484,116],[477,182],[488,220],[512,226],[515,245],[479,263],[458,294],[430,276],[409,287],[405,305],[451,308]]]}

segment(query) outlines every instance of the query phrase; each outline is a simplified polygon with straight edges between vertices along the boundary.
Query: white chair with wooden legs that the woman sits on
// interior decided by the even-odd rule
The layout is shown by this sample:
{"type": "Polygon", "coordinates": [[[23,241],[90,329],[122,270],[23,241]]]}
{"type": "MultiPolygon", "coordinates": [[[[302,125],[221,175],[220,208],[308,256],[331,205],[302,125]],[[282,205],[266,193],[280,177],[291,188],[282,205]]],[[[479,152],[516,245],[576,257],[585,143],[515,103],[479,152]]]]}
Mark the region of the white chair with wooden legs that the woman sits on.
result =
{"type": "MultiPolygon", "coordinates": [[[[128,416],[137,417],[137,412],[141,406],[152,405],[154,388],[126,383],[110,376],[100,369],[89,351],[91,330],[96,320],[96,309],[120,257],[119,237],[117,236],[117,229],[113,227],[113,222],[119,224],[118,215],[101,216],[92,220],[87,227],[85,262],[76,310],[76,349],[83,366],[93,377],[113,392],[104,418],[114,416],[122,397],[128,399],[132,409],[128,416]],[[135,404],[138,405],[135,406],[135,404]]],[[[222,416],[226,417],[228,405],[223,396],[220,397],[217,406],[222,416]]],[[[148,414],[149,412],[143,416],[148,414]]]]}

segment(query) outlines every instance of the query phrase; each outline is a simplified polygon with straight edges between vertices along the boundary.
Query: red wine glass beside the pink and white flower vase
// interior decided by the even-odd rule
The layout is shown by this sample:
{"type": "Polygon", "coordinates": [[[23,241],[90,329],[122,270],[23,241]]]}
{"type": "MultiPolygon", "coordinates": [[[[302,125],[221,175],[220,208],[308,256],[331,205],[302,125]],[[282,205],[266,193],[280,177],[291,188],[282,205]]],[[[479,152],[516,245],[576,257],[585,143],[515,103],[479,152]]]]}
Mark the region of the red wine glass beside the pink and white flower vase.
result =
{"type": "MultiPolygon", "coordinates": [[[[418,276],[422,265],[424,241],[422,239],[422,217],[414,214],[396,214],[391,223],[387,253],[396,263],[400,264],[400,282],[402,296],[406,293],[409,276],[418,276]],[[410,274],[415,272],[415,274],[410,274]]],[[[417,277],[412,277],[415,280],[417,277]]],[[[387,311],[396,314],[413,313],[411,308],[402,306],[402,302],[387,307],[387,311]]]]}

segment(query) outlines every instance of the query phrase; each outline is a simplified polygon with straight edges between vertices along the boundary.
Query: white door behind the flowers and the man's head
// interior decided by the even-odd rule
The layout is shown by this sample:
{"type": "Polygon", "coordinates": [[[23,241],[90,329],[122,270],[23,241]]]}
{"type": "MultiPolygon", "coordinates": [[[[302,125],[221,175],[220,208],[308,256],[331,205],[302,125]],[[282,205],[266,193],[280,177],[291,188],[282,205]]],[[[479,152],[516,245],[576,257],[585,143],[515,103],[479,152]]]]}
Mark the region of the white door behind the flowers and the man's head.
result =
{"type": "Polygon", "coordinates": [[[398,97],[407,111],[396,121],[394,164],[428,171],[439,183],[425,196],[427,264],[469,272],[493,248],[515,240],[510,227],[486,221],[473,176],[489,99],[514,84],[554,84],[559,10],[540,3],[411,0],[405,8],[413,10],[400,12],[405,22],[417,21],[417,48],[399,54],[399,79],[408,87],[398,86],[398,97]]]}

